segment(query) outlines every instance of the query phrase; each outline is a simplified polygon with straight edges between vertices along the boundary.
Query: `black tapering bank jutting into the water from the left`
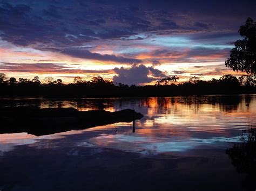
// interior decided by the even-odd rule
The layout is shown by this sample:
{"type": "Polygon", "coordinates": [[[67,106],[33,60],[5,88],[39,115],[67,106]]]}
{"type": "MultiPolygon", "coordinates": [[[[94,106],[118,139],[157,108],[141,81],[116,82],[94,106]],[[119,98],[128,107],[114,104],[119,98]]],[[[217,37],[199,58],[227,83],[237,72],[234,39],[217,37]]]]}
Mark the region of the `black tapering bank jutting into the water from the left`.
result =
{"type": "Polygon", "coordinates": [[[74,108],[1,108],[0,133],[27,132],[42,136],[117,122],[132,122],[142,117],[142,114],[131,109],[110,112],[78,111],[74,108]]]}

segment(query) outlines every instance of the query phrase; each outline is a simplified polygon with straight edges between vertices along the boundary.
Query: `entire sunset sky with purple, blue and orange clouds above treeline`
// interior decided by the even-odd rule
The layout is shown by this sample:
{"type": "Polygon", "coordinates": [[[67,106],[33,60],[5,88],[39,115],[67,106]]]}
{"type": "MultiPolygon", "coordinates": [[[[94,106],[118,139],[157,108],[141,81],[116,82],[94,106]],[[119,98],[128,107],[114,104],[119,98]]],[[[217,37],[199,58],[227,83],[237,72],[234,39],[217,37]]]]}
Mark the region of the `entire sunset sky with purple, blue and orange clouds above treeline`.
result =
{"type": "Polygon", "coordinates": [[[0,0],[0,73],[129,85],[240,76],[225,61],[255,10],[234,0],[0,0]]]}

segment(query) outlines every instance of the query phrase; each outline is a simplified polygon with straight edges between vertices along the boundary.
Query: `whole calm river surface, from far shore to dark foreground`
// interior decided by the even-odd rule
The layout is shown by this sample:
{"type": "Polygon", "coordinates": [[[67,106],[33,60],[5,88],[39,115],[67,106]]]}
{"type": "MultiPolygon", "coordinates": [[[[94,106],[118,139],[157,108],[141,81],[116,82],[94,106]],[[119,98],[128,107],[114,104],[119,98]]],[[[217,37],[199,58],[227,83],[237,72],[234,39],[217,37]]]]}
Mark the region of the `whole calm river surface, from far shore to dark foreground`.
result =
{"type": "Polygon", "coordinates": [[[1,191],[255,190],[254,176],[237,172],[225,152],[255,127],[255,95],[6,98],[0,105],[130,108],[144,115],[134,133],[131,123],[116,123],[41,137],[0,134],[1,191]]]}

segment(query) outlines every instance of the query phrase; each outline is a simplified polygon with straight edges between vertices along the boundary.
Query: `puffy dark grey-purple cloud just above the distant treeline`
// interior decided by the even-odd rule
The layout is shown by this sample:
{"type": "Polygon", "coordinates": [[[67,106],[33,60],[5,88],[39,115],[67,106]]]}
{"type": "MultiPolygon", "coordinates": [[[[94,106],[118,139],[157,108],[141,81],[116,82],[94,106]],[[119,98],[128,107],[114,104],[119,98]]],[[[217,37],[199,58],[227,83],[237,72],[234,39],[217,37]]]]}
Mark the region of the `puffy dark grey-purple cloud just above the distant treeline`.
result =
{"type": "Polygon", "coordinates": [[[113,82],[128,85],[150,83],[153,80],[159,80],[165,77],[165,74],[160,70],[144,65],[133,66],[131,68],[114,68],[113,70],[118,74],[118,76],[113,77],[113,82]],[[149,77],[149,75],[153,77],[149,77]]]}

